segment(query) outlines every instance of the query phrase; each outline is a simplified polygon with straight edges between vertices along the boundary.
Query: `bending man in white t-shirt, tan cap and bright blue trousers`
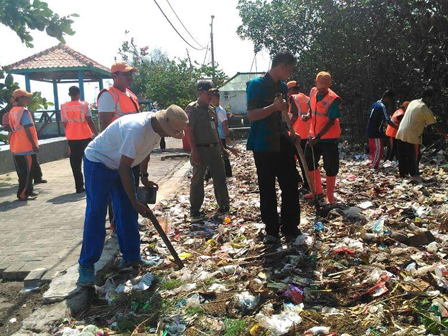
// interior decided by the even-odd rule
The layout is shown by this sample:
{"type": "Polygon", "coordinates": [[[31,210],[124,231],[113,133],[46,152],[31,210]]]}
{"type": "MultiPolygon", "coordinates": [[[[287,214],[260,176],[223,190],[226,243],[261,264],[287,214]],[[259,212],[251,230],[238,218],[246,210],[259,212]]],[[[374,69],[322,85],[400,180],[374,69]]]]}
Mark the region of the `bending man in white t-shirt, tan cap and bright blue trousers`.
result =
{"type": "Polygon", "coordinates": [[[146,216],[151,210],[137,200],[132,167],[140,164],[145,187],[157,187],[148,180],[149,155],[161,137],[182,139],[187,122],[187,114],[176,105],[157,113],[131,114],[112,122],[87,146],[84,157],[87,208],[79,258],[80,286],[95,284],[94,264],[103,251],[109,195],[123,254],[122,266],[148,264],[140,256],[137,219],[138,214],[146,216]]]}

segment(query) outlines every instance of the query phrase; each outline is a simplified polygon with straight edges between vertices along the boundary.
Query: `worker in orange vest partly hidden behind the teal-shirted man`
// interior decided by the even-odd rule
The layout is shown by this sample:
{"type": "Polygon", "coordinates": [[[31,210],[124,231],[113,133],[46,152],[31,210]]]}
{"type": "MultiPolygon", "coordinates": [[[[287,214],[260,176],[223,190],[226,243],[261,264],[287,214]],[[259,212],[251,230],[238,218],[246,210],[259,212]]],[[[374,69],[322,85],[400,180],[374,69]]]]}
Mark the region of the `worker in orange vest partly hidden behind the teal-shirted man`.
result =
{"type": "MultiPolygon", "coordinates": [[[[308,142],[309,121],[303,121],[302,116],[308,114],[308,101],[310,97],[300,92],[297,81],[290,81],[286,84],[288,89],[287,95],[289,98],[289,115],[291,123],[296,133],[300,136],[300,147],[305,151],[306,143],[308,142]]],[[[308,181],[305,178],[305,170],[302,161],[299,160],[300,169],[302,171],[303,189],[309,190],[308,181]]]]}

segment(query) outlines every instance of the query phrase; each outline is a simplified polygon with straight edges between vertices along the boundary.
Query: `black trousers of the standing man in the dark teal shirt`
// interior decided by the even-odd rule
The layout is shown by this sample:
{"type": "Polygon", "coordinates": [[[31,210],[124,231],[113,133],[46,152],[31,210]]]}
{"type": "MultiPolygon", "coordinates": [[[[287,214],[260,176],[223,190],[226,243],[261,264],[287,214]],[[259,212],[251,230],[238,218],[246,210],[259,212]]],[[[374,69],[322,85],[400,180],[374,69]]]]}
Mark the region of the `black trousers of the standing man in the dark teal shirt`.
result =
{"type": "Polygon", "coordinates": [[[261,219],[266,233],[278,237],[280,228],[277,213],[275,179],[282,191],[281,230],[284,234],[296,234],[300,223],[299,172],[292,144],[282,144],[280,152],[254,152],[260,189],[261,219]]]}

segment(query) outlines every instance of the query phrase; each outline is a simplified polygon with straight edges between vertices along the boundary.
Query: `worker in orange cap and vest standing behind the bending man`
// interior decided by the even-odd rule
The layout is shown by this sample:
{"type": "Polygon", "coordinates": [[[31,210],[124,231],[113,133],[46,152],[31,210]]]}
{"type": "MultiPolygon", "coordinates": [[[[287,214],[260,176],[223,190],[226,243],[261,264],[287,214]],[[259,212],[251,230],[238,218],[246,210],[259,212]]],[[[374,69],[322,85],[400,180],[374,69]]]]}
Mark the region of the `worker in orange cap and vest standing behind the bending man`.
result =
{"type": "MultiPolygon", "coordinates": [[[[137,69],[127,65],[124,62],[117,62],[110,68],[113,86],[108,89],[103,89],[98,94],[98,115],[100,119],[101,132],[104,131],[113,121],[118,118],[138,113],[140,106],[138,104],[137,96],[129,89],[132,85],[132,74],[137,72],[137,69]]],[[[133,176],[135,187],[139,185],[139,178],[148,180],[148,172],[140,172],[140,165],[133,167],[133,176]]],[[[109,204],[109,221],[110,229],[113,231],[114,214],[112,210],[112,203],[109,204]]]]}

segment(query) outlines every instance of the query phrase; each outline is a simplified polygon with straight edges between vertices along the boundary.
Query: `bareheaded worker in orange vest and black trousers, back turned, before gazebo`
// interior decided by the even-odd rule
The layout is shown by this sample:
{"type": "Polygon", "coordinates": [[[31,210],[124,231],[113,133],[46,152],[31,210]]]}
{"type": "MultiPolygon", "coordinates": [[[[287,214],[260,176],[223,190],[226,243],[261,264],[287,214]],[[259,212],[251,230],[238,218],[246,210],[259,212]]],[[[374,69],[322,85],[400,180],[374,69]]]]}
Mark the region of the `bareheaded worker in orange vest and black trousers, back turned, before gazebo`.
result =
{"type": "Polygon", "coordinates": [[[80,194],[85,191],[81,170],[84,150],[92,140],[92,135],[98,135],[98,132],[92,120],[89,103],[80,101],[79,87],[70,87],[68,95],[71,100],[61,105],[61,119],[70,147],[70,166],[75,178],[76,193],[80,194]]]}

